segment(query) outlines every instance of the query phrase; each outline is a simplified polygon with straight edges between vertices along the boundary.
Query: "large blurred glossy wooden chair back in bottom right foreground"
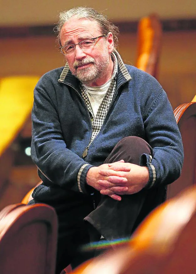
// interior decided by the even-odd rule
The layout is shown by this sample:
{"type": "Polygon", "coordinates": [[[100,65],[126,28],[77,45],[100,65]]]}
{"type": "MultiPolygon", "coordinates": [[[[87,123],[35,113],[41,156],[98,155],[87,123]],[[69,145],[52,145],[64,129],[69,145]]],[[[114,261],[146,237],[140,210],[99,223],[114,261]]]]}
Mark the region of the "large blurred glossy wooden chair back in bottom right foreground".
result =
{"type": "Polygon", "coordinates": [[[152,211],[124,246],[85,262],[72,274],[196,273],[195,226],[193,186],[152,211]]]}

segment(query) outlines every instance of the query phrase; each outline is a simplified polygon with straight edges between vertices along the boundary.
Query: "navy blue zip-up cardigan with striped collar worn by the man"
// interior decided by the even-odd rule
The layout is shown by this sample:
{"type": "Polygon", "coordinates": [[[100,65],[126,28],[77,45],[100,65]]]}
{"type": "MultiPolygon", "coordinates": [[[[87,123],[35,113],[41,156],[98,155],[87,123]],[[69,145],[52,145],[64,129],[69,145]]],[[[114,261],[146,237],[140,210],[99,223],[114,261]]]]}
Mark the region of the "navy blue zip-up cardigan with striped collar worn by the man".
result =
{"type": "Polygon", "coordinates": [[[132,135],[153,148],[152,157],[143,156],[150,173],[148,187],[170,184],[179,177],[182,140],[167,95],[149,74],[129,65],[126,69],[132,79],[127,80],[118,68],[115,96],[84,159],[92,126],[78,80],[70,71],[62,76],[63,67],[41,77],[34,90],[31,156],[44,183],[34,191],[34,198],[41,201],[57,186],[88,194],[85,177],[89,168],[101,165],[119,140],[132,135]],[[88,165],[78,185],[84,164],[88,165]]]}

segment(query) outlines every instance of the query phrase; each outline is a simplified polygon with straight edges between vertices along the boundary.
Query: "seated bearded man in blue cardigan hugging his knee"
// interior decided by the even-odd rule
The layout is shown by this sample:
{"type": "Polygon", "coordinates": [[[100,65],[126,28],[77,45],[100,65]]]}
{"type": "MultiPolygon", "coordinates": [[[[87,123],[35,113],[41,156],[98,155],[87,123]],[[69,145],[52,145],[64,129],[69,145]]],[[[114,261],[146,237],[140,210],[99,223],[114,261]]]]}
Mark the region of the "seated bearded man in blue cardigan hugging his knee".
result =
{"type": "Polygon", "coordinates": [[[88,258],[81,244],[131,235],[179,177],[183,148],[161,85],[115,50],[116,26],[79,7],[57,31],[67,63],[35,87],[31,155],[43,183],[31,204],[57,212],[60,273],[88,258]]]}

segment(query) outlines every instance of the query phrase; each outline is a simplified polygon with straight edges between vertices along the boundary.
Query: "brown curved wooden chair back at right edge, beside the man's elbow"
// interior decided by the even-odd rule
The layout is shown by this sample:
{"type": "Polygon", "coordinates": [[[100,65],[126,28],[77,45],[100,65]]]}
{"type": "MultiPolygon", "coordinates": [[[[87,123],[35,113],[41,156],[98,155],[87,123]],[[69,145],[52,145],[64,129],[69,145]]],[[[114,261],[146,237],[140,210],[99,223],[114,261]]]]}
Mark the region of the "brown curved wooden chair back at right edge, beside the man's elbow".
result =
{"type": "Polygon", "coordinates": [[[167,199],[196,184],[196,102],[178,106],[174,115],[182,136],[184,163],[180,177],[167,186],[167,199]]]}

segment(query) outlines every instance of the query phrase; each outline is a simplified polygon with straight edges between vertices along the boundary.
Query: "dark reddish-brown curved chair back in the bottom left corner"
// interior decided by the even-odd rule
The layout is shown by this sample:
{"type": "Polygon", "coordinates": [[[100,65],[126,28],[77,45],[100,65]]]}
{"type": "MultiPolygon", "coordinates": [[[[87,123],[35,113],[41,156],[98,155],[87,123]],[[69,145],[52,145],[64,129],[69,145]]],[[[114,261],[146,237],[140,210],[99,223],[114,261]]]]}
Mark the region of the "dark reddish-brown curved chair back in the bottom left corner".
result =
{"type": "Polygon", "coordinates": [[[54,274],[57,216],[48,205],[8,205],[0,220],[0,273],[54,274]]]}

